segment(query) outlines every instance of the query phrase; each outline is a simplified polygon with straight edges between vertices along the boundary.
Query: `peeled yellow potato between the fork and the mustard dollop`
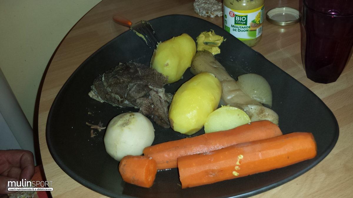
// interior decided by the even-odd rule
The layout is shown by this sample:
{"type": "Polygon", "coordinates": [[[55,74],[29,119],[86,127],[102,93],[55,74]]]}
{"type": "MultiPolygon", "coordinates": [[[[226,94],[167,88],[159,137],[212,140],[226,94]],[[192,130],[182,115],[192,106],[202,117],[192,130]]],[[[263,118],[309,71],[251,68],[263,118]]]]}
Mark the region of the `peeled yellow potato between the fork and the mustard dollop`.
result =
{"type": "Polygon", "coordinates": [[[173,83],[180,80],[185,70],[191,66],[195,53],[195,41],[183,33],[157,45],[151,58],[151,67],[167,76],[168,84],[173,83]]]}

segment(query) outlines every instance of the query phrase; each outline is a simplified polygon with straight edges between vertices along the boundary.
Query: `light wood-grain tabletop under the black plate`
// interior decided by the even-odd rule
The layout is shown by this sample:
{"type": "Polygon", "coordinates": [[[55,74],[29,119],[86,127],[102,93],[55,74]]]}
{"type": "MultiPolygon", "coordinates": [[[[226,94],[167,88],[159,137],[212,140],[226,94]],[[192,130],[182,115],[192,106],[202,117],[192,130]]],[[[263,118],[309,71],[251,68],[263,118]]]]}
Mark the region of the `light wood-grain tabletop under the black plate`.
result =
{"type": "MultiPolygon", "coordinates": [[[[298,0],[266,0],[265,10],[273,7],[299,7],[298,0]]],[[[70,178],[55,163],[46,142],[46,122],[50,106],[73,71],[102,45],[127,30],[112,20],[114,14],[136,23],[168,14],[198,16],[192,0],[103,0],[92,8],[63,39],[44,79],[41,92],[38,132],[44,171],[53,181],[53,197],[104,197],[70,178]]],[[[200,17],[203,18],[203,17],[200,17]]],[[[203,18],[222,26],[222,18],[203,18]]],[[[263,37],[254,50],[303,83],[333,111],[340,136],[331,153],[300,177],[254,197],[351,197],[353,192],[353,60],[340,78],[330,84],[306,78],[300,55],[300,26],[276,26],[264,21],[263,37]]],[[[236,187],[236,186],[235,186],[236,187]]]]}

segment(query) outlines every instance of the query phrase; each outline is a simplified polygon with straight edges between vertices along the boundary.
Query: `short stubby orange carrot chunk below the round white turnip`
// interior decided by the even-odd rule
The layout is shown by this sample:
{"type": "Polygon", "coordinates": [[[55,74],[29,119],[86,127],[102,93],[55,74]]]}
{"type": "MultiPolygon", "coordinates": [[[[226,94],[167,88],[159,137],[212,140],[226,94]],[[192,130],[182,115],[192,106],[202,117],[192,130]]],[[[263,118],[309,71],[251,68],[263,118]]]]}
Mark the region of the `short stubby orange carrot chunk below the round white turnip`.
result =
{"type": "Polygon", "coordinates": [[[127,155],[119,164],[119,172],[125,182],[149,188],[157,173],[157,163],[152,157],[127,155]]]}

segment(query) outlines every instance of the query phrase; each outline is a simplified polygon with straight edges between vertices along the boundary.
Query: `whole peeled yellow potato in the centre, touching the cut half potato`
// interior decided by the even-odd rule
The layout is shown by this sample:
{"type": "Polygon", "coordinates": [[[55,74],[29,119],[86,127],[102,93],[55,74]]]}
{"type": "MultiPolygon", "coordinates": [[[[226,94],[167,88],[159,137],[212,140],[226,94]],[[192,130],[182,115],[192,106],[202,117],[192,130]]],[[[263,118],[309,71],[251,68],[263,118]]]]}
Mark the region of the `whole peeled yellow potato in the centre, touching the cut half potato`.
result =
{"type": "Polygon", "coordinates": [[[186,81],[175,92],[169,107],[172,129],[186,135],[199,131],[217,108],[221,94],[221,83],[211,73],[203,72],[186,81]]]}

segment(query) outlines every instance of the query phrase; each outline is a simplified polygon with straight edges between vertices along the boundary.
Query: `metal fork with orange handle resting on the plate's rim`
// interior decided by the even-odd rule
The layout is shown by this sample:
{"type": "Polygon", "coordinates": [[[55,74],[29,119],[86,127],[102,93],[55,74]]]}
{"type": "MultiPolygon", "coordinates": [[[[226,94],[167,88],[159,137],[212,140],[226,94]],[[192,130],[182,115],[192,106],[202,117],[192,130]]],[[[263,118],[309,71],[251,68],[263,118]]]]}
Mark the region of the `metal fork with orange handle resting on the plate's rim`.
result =
{"type": "Polygon", "coordinates": [[[149,48],[155,49],[157,43],[160,41],[148,21],[142,20],[132,25],[130,20],[118,15],[114,15],[113,20],[120,25],[130,27],[130,29],[134,31],[149,48]]]}

